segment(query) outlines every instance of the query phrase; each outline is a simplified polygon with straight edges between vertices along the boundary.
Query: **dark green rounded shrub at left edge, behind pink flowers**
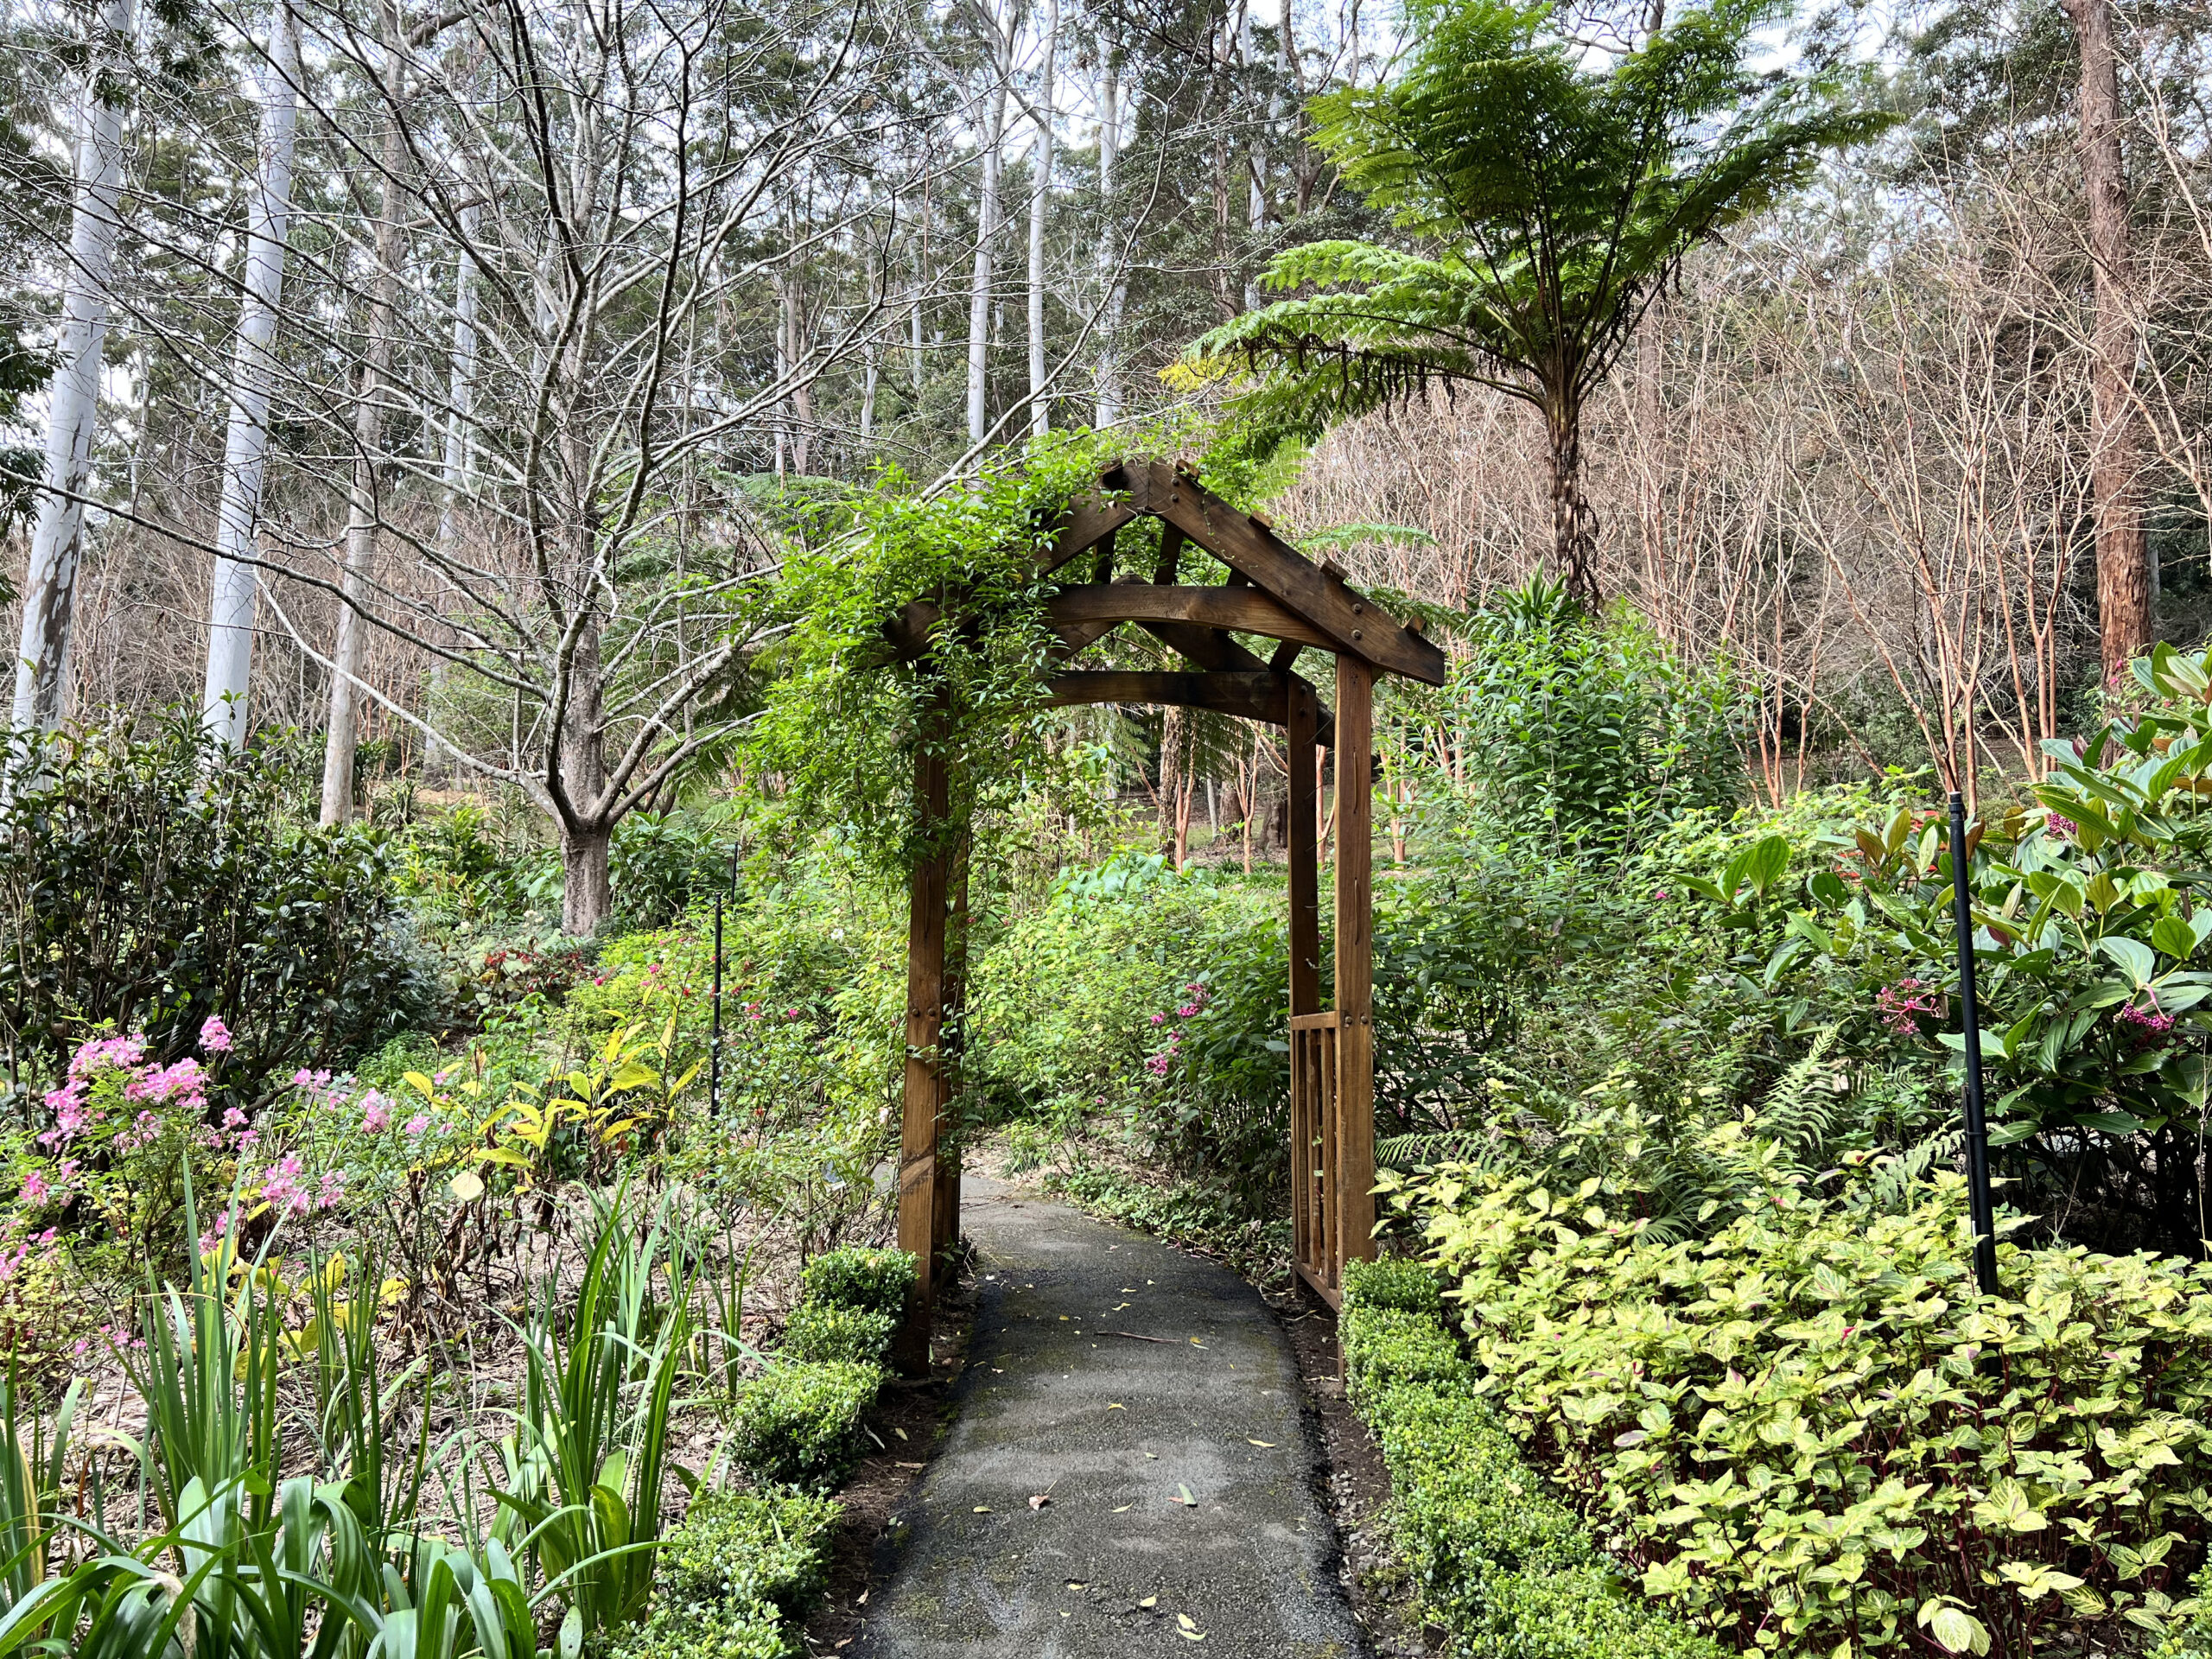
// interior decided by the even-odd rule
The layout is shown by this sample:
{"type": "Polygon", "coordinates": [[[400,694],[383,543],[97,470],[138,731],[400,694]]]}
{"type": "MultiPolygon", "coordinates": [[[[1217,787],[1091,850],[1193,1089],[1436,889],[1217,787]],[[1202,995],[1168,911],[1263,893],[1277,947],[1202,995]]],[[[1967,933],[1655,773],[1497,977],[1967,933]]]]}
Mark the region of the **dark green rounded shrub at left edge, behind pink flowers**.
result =
{"type": "Polygon", "coordinates": [[[252,1104],[425,1015],[436,987],[374,827],[301,812],[303,757],[217,759],[199,712],[24,737],[0,761],[0,1040],[58,1077],[93,1026],[168,1066],[217,1018],[210,1099],[252,1104]]]}

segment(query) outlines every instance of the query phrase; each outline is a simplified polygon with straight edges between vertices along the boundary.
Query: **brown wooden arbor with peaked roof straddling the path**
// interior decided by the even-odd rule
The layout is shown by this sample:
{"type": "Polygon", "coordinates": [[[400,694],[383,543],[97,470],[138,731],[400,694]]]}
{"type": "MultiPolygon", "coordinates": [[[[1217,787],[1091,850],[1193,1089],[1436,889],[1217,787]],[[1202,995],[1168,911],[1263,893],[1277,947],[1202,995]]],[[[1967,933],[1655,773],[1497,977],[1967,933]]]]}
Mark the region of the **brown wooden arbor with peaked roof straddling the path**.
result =
{"type": "MultiPolygon", "coordinates": [[[[1091,555],[1088,580],[1064,582],[1046,602],[1064,666],[1048,681],[1053,703],[1179,703],[1270,721],[1290,737],[1290,1144],[1292,1237],[1298,1274],[1329,1303],[1347,1259],[1374,1254],[1374,894],[1371,774],[1374,684],[1394,672],[1440,686],[1444,653],[1400,626],[1312,564],[1256,513],[1239,513],[1170,462],[1128,460],[1077,500],[1040,571],[1053,575],[1091,555]],[[1115,535],[1137,518],[1161,520],[1152,580],[1113,575],[1115,535]],[[1183,586],[1179,557],[1197,544],[1221,560],[1228,582],[1183,586]],[[1126,672],[1075,666],[1124,624],[1144,628],[1183,657],[1186,670],[1126,672]],[[1259,657],[1239,635],[1279,641],[1259,657]],[[1336,655],[1336,710],[1294,675],[1301,650],[1336,655]],[[1336,1006],[1321,1006],[1318,748],[1336,750],[1336,1006]]],[[[1082,568],[1082,566],[1077,566],[1082,568]]],[[[933,606],[907,606],[889,624],[907,653],[927,648],[933,606]]],[[[947,812],[940,757],[918,763],[916,796],[929,816],[947,812]]],[[[960,1168],[940,1155],[951,1104],[940,1053],[947,1006],[958,1002],[958,962],[947,973],[947,909],[956,902],[953,854],[914,872],[907,938],[907,1075],[898,1166],[898,1243],[920,1261],[902,1363],[927,1365],[927,1307],[938,1259],[960,1237],[960,1168]]]]}

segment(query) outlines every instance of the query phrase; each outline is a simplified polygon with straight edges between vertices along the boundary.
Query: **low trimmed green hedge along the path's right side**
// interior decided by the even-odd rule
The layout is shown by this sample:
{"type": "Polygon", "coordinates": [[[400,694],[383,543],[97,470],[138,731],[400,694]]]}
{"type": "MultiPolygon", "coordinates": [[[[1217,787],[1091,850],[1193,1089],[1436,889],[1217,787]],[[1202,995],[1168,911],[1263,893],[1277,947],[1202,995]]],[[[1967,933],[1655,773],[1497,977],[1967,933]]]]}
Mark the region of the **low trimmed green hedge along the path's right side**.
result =
{"type": "Polygon", "coordinates": [[[1444,1329],[1418,1261],[1345,1263],[1345,1380],[1391,1478],[1389,1526],[1420,1613],[1467,1659],[1723,1659],[1628,1586],[1551,1495],[1444,1329]]]}

